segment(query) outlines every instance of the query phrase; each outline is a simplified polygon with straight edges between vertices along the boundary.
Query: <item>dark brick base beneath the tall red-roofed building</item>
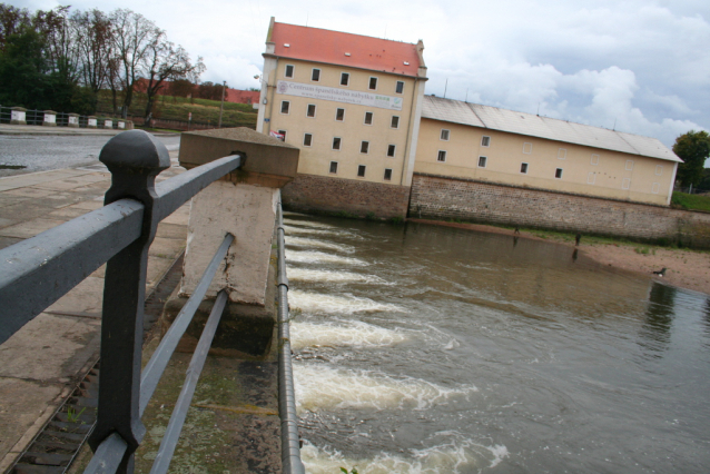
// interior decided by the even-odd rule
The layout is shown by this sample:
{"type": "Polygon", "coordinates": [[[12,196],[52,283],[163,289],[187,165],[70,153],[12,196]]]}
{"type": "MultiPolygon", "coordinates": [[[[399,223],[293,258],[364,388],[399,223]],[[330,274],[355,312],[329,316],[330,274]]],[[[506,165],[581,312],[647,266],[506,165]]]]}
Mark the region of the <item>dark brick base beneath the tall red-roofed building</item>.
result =
{"type": "Polygon", "coordinates": [[[284,206],[304,211],[347,211],[361,217],[405,217],[410,200],[407,186],[383,185],[355,179],[298,175],[282,189],[284,206]]]}

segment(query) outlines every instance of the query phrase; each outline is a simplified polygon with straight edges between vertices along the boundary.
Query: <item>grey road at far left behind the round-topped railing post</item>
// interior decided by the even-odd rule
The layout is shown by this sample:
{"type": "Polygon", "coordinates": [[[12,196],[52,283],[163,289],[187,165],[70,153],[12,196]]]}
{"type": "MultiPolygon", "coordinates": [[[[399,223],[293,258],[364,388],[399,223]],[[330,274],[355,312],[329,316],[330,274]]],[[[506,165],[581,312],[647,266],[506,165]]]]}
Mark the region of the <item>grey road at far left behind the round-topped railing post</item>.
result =
{"type": "MultiPolygon", "coordinates": [[[[107,136],[0,135],[0,177],[50,169],[98,165],[107,136]]],[[[160,135],[168,150],[177,150],[180,136],[160,135]]]]}

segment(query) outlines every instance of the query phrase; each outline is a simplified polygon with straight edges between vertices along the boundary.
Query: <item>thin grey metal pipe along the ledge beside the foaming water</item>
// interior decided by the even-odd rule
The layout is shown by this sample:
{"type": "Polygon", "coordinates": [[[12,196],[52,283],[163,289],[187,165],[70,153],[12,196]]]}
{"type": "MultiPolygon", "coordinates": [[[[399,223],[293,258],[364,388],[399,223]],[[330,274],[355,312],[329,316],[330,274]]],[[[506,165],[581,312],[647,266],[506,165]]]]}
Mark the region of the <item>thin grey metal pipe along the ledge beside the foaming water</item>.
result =
{"type": "Polygon", "coordinates": [[[296,414],[296,392],[294,369],[290,359],[290,332],[288,307],[288,277],[286,276],[284,211],[282,203],[277,207],[276,236],[278,240],[278,415],[282,418],[282,466],[288,474],[305,474],[300,461],[298,438],[298,415],[296,414]]]}

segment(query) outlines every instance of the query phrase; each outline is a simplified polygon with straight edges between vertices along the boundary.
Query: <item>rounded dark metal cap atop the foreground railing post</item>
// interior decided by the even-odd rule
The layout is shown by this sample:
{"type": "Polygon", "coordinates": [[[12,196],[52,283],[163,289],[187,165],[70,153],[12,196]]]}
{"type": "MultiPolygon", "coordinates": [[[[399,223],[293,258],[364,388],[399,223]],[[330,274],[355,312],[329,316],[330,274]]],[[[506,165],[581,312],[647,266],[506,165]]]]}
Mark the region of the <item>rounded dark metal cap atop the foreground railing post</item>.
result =
{"type": "Polygon", "coordinates": [[[144,130],[127,130],[108,140],[99,161],[111,170],[151,170],[157,175],[170,167],[170,155],[152,135],[144,130]]]}

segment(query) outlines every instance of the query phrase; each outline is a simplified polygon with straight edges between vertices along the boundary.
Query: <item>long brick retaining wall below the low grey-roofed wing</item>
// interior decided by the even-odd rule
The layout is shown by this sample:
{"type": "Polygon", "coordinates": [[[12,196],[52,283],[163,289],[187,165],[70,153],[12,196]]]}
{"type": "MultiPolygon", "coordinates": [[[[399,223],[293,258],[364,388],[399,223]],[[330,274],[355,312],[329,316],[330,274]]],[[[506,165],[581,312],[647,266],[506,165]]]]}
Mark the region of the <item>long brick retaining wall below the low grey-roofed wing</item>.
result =
{"type": "Polygon", "coordinates": [[[410,216],[420,215],[710,248],[710,214],[415,174],[410,216]]]}

